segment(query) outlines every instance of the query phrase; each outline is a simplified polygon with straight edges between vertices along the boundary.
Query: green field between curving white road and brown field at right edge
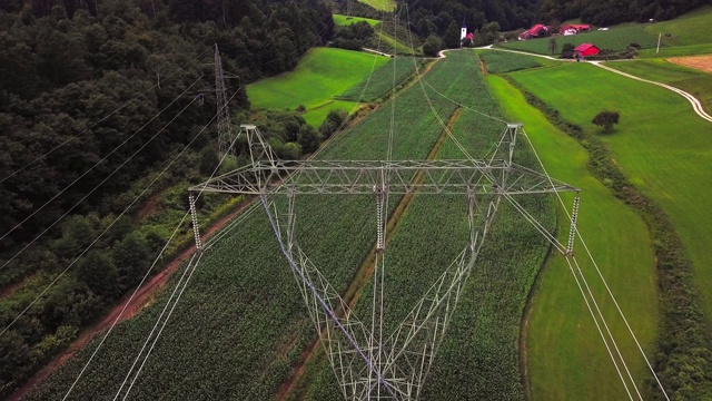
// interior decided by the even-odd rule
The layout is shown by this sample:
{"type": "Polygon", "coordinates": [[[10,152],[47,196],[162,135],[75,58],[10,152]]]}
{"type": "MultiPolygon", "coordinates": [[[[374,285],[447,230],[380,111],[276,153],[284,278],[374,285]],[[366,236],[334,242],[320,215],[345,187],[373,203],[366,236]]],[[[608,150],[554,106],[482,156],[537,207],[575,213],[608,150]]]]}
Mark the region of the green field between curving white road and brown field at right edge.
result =
{"type": "MultiPolygon", "coordinates": [[[[711,45],[712,46],[712,45],[711,45]]],[[[712,48],[712,47],[711,47],[712,48]]],[[[692,94],[712,113],[712,75],[662,59],[609,62],[606,66],[692,94]]]]}

